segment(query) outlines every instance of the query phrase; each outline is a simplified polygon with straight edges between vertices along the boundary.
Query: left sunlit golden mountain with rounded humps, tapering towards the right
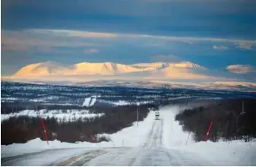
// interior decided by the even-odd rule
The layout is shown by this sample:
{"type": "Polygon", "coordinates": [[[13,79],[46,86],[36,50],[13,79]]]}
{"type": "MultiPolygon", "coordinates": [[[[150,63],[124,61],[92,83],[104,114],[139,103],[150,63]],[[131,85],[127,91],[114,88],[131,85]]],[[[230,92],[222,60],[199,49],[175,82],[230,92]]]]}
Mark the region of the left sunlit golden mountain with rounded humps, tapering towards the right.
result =
{"type": "Polygon", "coordinates": [[[26,76],[47,76],[54,74],[61,75],[112,75],[123,74],[136,71],[144,71],[141,68],[134,68],[129,65],[122,65],[112,62],[104,63],[90,63],[81,62],[75,65],[62,65],[54,61],[45,61],[36,64],[27,65],[21,70],[17,71],[14,76],[26,77],[26,76]]]}

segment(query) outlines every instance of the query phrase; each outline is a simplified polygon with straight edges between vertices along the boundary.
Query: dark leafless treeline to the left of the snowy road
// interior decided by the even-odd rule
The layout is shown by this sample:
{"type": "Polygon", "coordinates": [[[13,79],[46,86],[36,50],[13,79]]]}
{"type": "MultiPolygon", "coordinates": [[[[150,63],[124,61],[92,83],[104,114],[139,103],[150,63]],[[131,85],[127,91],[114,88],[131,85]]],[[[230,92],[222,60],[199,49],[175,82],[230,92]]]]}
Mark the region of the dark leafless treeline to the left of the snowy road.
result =
{"type": "MultiPolygon", "coordinates": [[[[151,106],[152,107],[152,106],[151,106]]],[[[137,120],[137,106],[116,106],[107,109],[93,109],[94,112],[104,112],[100,118],[72,121],[58,121],[56,118],[46,118],[46,132],[49,140],[74,143],[76,141],[100,142],[108,140],[101,137],[96,141],[96,134],[113,134],[132,125],[137,120]],[[93,137],[92,137],[93,135],[93,137]]],[[[139,120],[147,117],[149,106],[139,106],[139,120]]],[[[1,123],[1,144],[26,143],[28,140],[40,137],[45,140],[42,122],[39,117],[12,117],[1,123]]]]}

